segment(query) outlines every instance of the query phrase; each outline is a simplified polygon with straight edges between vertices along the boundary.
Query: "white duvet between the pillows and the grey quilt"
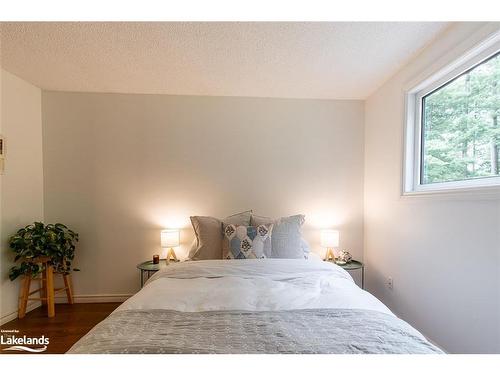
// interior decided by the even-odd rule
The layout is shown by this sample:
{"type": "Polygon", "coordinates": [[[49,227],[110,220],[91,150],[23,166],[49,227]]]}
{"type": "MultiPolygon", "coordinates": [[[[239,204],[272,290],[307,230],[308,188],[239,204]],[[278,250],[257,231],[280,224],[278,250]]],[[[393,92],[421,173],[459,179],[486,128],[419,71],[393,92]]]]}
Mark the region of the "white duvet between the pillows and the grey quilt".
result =
{"type": "Polygon", "coordinates": [[[367,309],[391,314],[339,266],[319,260],[205,260],[172,264],[116,311],[367,309]]]}

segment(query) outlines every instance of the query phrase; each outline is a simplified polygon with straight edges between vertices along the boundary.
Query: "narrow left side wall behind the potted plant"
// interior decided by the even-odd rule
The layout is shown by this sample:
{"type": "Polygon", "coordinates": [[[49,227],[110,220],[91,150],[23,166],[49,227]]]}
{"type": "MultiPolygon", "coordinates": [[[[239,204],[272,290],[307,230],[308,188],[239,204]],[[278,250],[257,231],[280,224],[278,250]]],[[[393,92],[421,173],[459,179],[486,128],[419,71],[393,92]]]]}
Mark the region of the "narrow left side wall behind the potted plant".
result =
{"type": "Polygon", "coordinates": [[[14,258],[8,238],[43,220],[41,90],[2,70],[1,119],[6,159],[0,190],[0,317],[5,321],[16,316],[19,297],[19,279],[8,278],[14,258]]]}

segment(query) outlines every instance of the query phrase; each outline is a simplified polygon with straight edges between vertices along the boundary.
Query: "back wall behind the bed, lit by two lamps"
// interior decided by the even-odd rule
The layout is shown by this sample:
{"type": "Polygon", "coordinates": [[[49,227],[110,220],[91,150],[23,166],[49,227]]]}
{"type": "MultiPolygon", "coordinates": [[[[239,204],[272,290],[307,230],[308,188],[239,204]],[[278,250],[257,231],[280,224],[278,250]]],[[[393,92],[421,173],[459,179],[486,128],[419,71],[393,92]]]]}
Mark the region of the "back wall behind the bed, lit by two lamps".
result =
{"type": "MultiPolygon", "coordinates": [[[[136,292],[190,215],[306,215],[363,252],[363,102],[43,92],[45,219],[80,233],[75,294],[136,292]]],[[[96,296],[98,295],[98,296],[96,296]]]]}

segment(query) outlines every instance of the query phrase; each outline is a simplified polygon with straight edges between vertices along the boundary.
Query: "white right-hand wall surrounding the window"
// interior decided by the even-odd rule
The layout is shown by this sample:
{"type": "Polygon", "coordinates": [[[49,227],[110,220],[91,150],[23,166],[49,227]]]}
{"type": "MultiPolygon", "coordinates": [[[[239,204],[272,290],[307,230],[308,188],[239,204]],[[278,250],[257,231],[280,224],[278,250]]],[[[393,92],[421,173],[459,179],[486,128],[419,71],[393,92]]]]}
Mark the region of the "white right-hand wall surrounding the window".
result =
{"type": "Polygon", "coordinates": [[[498,28],[454,25],[365,106],[368,289],[454,353],[500,352],[500,194],[401,197],[404,89],[498,28]]]}

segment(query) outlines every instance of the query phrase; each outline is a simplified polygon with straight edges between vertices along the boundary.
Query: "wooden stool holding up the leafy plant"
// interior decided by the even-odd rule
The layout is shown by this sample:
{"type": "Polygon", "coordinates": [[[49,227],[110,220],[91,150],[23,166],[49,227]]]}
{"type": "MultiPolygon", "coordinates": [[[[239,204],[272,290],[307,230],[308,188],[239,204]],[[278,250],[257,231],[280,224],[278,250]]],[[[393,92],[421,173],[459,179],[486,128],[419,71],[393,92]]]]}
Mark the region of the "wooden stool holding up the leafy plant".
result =
{"type": "Polygon", "coordinates": [[[42,301],[42,305],[47,305],[47,315],[52,318],[56,315],[55,311],[55,293],[66,291],[66,296],[68,297],[68,303],[73,304],[73,288],[71,286],[71,277],[69,274],[62,274],[64,280],[64,288],[54,289],[54,268],[48,263],[50,258],[39,257],[33,259],[33,263],[42,264],[42,274],[39,277],[33,278],[31,275],[25,275],[21,284],[21,295],[19,296],[19,319],[24,318],[26,315],[26,307],[28,306],[29,300],[42,301]],[[40,282],[40,288],[30,291],[31,281],[37,280],[40,282]],[[32,294],[40,292],[40,298],[30,298],[32,294]]]}

